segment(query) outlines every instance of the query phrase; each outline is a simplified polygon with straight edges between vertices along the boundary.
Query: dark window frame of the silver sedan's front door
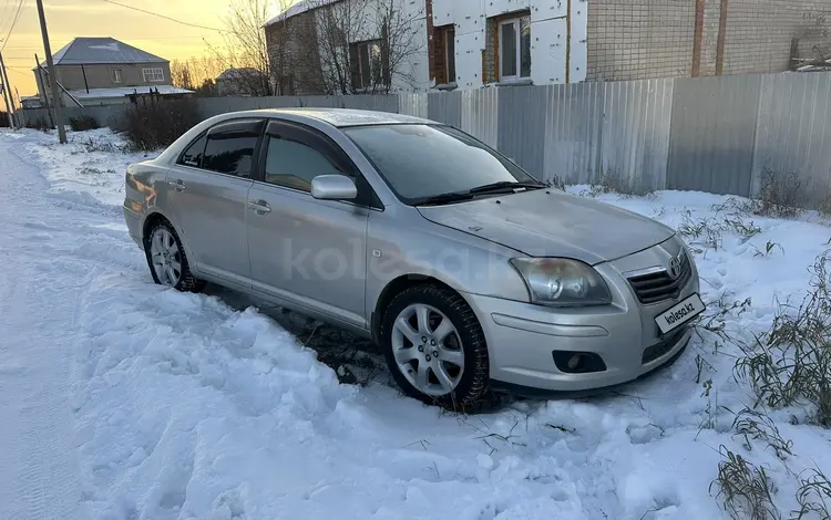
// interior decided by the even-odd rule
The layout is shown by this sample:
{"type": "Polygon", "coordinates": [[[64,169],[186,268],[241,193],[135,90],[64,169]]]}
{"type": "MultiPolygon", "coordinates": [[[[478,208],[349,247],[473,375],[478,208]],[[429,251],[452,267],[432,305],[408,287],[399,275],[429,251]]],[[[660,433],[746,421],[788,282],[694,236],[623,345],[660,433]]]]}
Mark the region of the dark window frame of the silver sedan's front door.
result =
{"type": "Polygon", "coordinates": [[[365,207],[383,211],[384,207],[381,199],[376,194],[372,186],[369,184],[363,173],[358,168],[355,162],[349,157],[343,148],[341,148],[335,141],[322,132],[312,128],[311,126],[305,125],[289,119],[268,119],[263,131],[263,136],[259,143],[258,163],[256,168],[256,175],[252,177],[252,180],[263,186],[269,186],[274,189],[281,189],[308,197],[310,200],[318,202],[336,202],[345,204],[349,206],[365,207]],[[340,169],[342,175],[351,177],[358,188],[358,198],[355,200],[319,200],[312,197],[311,191],[293,188],[290,186],[266,183],[266,160],[268,159],[268,138],[270,136],[279,137],[286,136],[289,141],[297,142],[301,145],[306,145],[326,157],[336,168],[340,169]]]}

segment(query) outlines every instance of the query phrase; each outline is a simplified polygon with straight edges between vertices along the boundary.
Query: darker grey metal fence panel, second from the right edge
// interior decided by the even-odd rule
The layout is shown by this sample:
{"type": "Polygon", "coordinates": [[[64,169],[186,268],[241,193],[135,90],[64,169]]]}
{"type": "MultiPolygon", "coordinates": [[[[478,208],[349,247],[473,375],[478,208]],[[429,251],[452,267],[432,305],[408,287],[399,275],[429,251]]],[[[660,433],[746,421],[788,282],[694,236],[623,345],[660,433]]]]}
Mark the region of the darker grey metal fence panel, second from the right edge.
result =
{"type": "Polygon", "coordinates": [[[750,195],[761,76],[676,80],[668,189],[750,195]]]}

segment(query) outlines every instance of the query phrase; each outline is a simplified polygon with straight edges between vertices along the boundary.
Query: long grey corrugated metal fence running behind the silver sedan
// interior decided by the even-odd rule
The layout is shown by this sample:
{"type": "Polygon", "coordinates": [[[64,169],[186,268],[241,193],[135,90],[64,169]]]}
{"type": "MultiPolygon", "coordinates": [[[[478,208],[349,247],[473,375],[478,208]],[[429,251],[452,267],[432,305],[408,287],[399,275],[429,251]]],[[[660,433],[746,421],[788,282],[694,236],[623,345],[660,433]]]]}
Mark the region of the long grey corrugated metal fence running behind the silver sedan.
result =
{"type": "MultiPolygon", "coordinates": [[[[757,195],[766,176],[831,196],[831,73],[644,80],[375,96],[213,97],[205,117],[271,107],[366,108],[456,126],[544,179],[630,193],[757,195]],[[782,180],[784,181],[784,180],[782,180]]],[[[69,108],[116,126],[124,106],[69,108]]],[[[42,111],[24,111],[29,118],[42,111]]]]}

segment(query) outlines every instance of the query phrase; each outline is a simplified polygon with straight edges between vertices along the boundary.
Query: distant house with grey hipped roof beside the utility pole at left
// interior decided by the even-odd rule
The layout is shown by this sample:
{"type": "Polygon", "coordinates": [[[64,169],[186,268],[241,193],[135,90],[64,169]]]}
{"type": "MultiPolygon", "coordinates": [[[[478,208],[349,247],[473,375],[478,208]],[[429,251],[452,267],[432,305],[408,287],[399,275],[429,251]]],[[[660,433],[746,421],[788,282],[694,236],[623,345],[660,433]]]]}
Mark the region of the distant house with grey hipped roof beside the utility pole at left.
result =
{"type": "MultiPolygon", "coordinates": [[[[170,62],[113,38],[75,38],[52,55],[63,105],[129,103],[135,96],[182,96],[192,91],[171,83],[170,62]]],[[[33,71],[39,98],[52,103],[45,62],[33,71]]]]}

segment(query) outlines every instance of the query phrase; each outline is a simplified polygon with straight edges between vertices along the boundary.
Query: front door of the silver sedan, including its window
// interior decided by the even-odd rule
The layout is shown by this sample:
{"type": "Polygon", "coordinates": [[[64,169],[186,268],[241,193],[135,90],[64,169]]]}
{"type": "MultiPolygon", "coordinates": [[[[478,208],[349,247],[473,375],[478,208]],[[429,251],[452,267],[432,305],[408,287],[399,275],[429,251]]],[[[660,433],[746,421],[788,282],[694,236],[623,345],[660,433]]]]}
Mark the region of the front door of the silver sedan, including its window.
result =
{"type": "Polygon", "coordinates": [[[254,289],[366,326],[369,185],[340,147],[305,125],[269,122],[260,155],[248,194],[254,289]],[[358,199],[315,199],[311,179],[326,174],[352,177],[358,199]]]}

